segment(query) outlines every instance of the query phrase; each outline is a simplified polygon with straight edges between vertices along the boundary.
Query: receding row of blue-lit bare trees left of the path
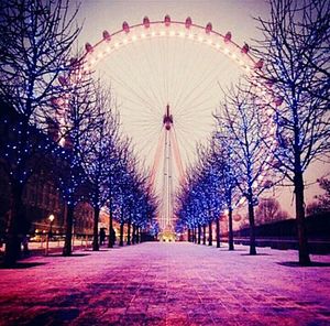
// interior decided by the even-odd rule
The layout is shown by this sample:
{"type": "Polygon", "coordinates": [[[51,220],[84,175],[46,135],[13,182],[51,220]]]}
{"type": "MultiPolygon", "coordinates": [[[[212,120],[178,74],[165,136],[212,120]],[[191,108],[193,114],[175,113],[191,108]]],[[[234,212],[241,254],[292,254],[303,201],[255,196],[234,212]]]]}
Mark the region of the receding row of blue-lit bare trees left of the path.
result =
{"type": "Polygon", "coordinates": [[[0,3],[0,96],[19,113],[14,138],[0,148],[11,187],[9,265],[20,249],[24,187],[41,161],[56,162],[53,175],[67,205],[65,256],[72,253],[74,210],[80,200],[94,207],[94,250],[99,249],[101,207],[109,209],[109,237],[113,217],[134,233],[155,216],[146,174],[138,169],[130,141],[119,133],[111,91],[90,78],[81,59],[72,58],[80,28],[75,24],[77,10],[69,12],[68,0],[0,3]],[[52,139],[46,139],[50,126],[52,139]]]}

